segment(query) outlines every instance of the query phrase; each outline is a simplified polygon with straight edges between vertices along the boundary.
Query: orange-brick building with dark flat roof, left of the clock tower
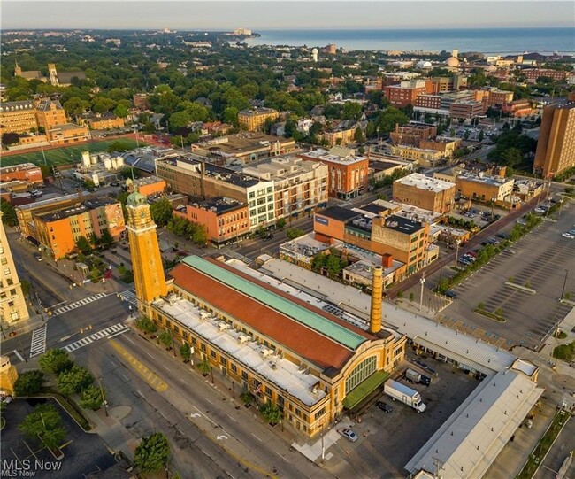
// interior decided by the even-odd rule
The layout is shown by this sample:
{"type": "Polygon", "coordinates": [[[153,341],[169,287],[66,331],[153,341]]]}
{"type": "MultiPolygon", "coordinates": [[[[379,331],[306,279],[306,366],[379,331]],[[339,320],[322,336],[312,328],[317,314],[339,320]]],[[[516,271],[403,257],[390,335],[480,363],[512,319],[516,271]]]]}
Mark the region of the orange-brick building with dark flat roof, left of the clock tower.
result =
{"type": "Polygon", "coordinates": [[[126,225],[122,205],[114,199],[85,200],[71,208],[33,215],[33,236],[54,259],[76,250],[80,236],[100,237],[107,230],[114,240],[124,235],[126,225]]]}

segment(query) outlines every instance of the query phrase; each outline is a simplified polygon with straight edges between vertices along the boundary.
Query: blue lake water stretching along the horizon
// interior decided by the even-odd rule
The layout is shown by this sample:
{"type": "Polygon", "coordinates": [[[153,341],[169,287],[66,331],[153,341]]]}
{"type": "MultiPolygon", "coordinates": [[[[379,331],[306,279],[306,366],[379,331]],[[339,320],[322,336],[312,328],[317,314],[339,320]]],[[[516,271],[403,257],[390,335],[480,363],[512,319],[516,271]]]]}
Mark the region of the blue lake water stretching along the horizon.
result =
{"type": "Polygon", "coordinates": [[[324,47],[335,43],[349,50],[479,51],[522,53],[559,51],[575,54],[572,28],[467,28],[365,30],[260,30],[250,45],[324,47]]]}

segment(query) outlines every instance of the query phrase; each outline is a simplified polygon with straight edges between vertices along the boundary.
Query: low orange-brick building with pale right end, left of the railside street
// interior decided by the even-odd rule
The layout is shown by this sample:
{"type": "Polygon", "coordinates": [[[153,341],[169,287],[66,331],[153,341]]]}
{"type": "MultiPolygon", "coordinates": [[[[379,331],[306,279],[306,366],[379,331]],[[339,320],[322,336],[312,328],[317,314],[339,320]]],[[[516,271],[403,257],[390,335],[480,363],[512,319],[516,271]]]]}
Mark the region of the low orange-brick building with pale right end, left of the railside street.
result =
{"type": "Polygon", "coordinates": [[[462,173],[456,177],[457,194],[476,201],[510,202],[513,178],[462,173]]]}

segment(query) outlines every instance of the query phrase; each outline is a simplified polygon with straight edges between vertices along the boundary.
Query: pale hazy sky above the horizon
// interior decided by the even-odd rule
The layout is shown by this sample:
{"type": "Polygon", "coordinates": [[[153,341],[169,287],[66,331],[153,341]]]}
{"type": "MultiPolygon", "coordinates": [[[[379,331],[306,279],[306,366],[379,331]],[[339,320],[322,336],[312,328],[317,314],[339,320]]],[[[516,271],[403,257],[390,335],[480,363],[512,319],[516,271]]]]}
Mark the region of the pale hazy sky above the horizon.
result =
{"type": "Polygon", "coordinates": [[[1,0],[0,13],[3,30],[575,27],[574,2],[541,0],[1,0]]]}

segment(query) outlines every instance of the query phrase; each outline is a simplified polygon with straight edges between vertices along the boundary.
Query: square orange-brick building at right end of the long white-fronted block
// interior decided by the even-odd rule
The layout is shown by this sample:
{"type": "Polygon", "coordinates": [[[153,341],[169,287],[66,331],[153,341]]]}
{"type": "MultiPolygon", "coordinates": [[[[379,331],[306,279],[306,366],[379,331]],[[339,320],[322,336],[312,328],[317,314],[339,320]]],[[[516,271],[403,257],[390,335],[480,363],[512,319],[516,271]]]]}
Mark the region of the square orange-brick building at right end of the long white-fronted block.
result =
{"type": "Polygon", "coordinates": [[[299,158],[323,163],[327,166],[328,195],[340,199],[358,197],[367,189],[369,158],[356,156],[345,148],[330,151],[318,149],[300,153],[299,158]],[[342,153],[335,154],[335,153],[342,153]]]}

